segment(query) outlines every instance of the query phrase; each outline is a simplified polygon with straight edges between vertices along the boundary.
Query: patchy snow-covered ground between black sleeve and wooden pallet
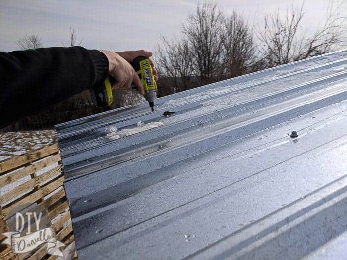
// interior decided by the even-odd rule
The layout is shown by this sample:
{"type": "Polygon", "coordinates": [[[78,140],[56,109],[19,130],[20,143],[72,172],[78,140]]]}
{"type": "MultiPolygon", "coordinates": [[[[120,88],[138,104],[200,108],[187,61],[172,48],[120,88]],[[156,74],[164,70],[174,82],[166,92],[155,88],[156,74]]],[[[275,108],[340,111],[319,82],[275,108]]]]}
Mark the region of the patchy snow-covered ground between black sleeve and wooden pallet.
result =
{"type": "Polygon", "coordinates": [[[0,133],[0,161],[52,144],[55,130],[0,133]]]}

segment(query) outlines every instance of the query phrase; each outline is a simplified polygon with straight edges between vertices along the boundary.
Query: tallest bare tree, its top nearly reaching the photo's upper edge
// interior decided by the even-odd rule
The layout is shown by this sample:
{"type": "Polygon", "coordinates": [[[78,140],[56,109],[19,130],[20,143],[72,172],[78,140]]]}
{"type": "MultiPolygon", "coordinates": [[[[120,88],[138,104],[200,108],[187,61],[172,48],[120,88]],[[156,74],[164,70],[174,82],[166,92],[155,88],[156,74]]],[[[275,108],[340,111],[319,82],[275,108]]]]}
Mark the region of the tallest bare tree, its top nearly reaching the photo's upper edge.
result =
{"type": "Polygon", "coordinates": [[[213,81],[219,71],[223,50],[222,35],[224,17],[217,4],[198,4],[196,12],[183,25],[183,35],[193,53],[196,74],[202,83],[213,81]]]}

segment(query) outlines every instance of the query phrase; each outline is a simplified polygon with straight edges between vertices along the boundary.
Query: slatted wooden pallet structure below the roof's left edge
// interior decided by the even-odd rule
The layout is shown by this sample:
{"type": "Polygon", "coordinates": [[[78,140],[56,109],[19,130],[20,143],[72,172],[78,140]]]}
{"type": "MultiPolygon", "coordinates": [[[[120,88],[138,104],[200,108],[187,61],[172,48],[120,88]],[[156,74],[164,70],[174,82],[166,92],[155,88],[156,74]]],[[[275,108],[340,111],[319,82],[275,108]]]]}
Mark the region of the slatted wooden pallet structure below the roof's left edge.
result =
{"type": "MultiPolygon", "coordinates": [[[[0,196],[0,240],[8,231],[6,220],[11,209],[25,203],[37,203],[49,213],[50,226],[56,231],[57,240],[65,247],[74,241],[70,211],[63,189],[64,175],[58,144],[46,146],[29,154],[16,156],[0,162],[0,188],[26,180],[0,196]],[[58,164],[50,170],[43,168],[58,164]],[[45,171],[37,174],[37,172],[45,171]],[[53,223],[52,220],[61,215],[53,223]]],[[[63,250],[65,247],[60,248],[63,250]]],[[[0,245],[0,259],[55,259],[47,254],[46,245],[30,254],[15,255],[9,246],[0,245]]]]}

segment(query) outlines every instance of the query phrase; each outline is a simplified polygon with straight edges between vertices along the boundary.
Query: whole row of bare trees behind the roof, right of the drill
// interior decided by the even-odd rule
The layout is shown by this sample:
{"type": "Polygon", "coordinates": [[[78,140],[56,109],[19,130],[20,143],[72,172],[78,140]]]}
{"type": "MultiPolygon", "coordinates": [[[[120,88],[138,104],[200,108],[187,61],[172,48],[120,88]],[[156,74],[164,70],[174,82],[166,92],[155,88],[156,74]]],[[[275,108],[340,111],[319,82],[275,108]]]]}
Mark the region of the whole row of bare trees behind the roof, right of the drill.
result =
{"type": "MultiPolygon", "coordinates": [[[[346,18],[330,1],[327,17],[312,35],[302,28],[304,5],[264,17],[262,25],[242,15],[224,14],[216,3],[197,5],[181,34],[162,37],[156,53],[160,96],[286,64],[341,48],[346,18]]],[[[318,17],[317,17],[318,18],[318,17]]]]}

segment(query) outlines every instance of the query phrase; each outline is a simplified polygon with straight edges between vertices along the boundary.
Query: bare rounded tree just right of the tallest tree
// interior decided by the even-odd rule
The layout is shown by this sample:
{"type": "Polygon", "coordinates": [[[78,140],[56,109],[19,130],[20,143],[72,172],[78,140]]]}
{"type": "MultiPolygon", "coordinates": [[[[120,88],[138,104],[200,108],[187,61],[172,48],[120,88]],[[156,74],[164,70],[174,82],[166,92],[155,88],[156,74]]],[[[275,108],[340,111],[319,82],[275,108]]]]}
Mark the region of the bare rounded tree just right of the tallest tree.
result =
{"type": "Polygon", "coordinates": [[[240,76],[250,72],[254,62],[255,46],[253,29],[244,18],[233,12],[224,22],[223,68],[226,78],[240,76]]]}

